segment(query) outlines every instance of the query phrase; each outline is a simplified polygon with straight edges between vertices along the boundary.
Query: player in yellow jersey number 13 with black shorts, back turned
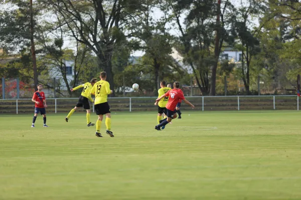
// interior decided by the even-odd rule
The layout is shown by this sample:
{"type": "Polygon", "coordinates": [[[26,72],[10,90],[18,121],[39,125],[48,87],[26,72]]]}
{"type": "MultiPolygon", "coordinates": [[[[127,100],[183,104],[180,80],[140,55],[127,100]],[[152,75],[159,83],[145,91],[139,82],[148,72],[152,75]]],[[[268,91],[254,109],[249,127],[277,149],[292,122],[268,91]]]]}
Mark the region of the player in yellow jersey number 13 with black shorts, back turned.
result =
{"type": "Polygon", "coordinates": [[[92,89],[90,90],[90,94],[95,95],[95,111],[98,115],[98,119],[96,121],[96,133],[97,137],[102,137],[100,133],[101,122],[103,119],[103,115],[105,114],[105,125],[106,125],[106,133],[113,137],[113,132],[111,131],[111,111],[108,103],[108,94],[112,93],[110,90],[110,84],[106,81],[106,72],[100,72],[100,80],[94,84],[92,89]]]}

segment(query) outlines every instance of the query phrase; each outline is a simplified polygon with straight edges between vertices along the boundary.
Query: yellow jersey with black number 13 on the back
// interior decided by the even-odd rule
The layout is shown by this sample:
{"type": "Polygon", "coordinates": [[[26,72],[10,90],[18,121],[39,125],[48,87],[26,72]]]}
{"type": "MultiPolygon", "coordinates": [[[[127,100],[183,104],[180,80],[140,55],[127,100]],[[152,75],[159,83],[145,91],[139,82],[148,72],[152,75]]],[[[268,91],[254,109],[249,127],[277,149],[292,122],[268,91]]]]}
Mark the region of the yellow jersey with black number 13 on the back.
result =
{"type": "Polygon", "coordinates": [[[110,83],[105,80],[99,80],[90,90],[90,94],[95,94],[94,104],[104,103],[108,100],[108,94],[111,93],[110,83]]]}

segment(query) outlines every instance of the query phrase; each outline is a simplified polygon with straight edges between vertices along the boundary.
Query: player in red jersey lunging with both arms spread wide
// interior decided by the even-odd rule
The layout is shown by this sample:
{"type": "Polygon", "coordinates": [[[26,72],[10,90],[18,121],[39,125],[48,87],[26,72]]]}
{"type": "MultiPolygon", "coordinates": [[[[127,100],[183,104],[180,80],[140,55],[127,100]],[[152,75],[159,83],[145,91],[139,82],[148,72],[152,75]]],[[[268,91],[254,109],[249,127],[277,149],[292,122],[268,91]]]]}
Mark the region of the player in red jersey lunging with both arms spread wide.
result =
{"type": "Polygon", "coordinates": [[[165,106],[167,108],[167,114],[166,114],[167,119],[162,119],[160,121],[161,123],[155,126],[156,130],[161,130],[162,126],[165,127],[165,125],[171,122],[173,118],[177,117],[176,106],[179,100],[183,100],[185,103],[189,104],[192,108],[195,107],[191,102],[185,99],[183,91],[179,87],[180,87],[180,82],[178,81],[174,82],[173,89],[169,90],[168,92],[166,92],[165,94],[163,94],[162,96],[156,99],[156,103],[157,103],[161,98],[164,98],[165,96],[169,96],[168,102],[165,106]]]}

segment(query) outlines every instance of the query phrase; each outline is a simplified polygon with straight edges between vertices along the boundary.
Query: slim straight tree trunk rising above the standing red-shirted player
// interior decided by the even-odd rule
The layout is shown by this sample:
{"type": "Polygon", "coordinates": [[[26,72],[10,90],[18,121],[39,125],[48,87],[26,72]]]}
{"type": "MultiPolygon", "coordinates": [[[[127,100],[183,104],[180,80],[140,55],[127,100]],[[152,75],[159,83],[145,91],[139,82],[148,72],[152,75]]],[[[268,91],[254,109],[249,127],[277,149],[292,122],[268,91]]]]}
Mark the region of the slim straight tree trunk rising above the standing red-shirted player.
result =
{"type": "Polygon", "coordinates": [[[38,90],[38,69],[37,69],[37,58],[36,58],[36,49],[35,49],[35,42],[34,42],[33,0],[30,0],[30,42],[31,42],[31,51],[32,51],[32,59],[33,59],[35,91],[37,91],[38,90]]]}

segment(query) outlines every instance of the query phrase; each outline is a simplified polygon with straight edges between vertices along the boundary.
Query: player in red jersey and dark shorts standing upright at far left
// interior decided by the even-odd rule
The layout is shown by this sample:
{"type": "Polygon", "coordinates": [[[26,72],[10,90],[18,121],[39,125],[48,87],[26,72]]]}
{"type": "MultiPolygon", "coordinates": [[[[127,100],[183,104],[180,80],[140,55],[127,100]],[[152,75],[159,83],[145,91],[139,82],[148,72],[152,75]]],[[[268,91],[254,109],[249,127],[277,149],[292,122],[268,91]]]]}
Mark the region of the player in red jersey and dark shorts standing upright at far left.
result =
{"type": "Polygon", "coordinates": [[[42,84],[38,84],[38,91],[36,91],[33,95],[32,101],[35,102],[35,115],[33,118],[33,124],[32,127],[35,127],[35,122],[38,116],[38,113],[40,112],[43,115],[44,125],[43,127],[48,127],[46,125],[46,99],[45,99],[45,93],[42,91],[43,86],[42,84]]]}

